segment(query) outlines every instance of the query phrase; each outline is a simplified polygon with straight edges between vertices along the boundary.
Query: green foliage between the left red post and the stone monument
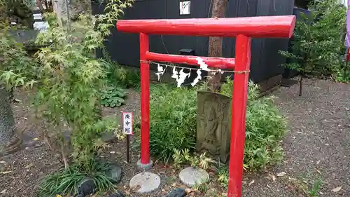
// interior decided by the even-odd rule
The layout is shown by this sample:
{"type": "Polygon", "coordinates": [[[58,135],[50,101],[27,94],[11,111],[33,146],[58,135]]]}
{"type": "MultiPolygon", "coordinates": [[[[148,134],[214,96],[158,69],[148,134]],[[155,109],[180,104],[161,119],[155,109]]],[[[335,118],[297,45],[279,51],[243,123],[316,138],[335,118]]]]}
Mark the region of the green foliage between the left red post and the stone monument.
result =
{"type": "MultiPolygon", "coordinates": [[[[150,151],[167,163],[174,149],[193,149],[196,130],[196,92],[161,84],[151,86],[150,151]]],[[[136,140],[139,146],[139,138],[136,140]]]]}

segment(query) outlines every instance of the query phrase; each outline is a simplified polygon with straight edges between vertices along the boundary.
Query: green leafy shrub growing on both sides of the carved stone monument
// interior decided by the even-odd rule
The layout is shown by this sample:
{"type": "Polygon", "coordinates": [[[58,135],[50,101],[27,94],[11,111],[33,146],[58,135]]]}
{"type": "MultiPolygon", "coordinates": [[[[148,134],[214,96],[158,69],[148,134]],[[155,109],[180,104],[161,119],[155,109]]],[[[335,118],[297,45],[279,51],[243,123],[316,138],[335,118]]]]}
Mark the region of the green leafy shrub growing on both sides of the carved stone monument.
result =
{"type": "MultiPolygon", "coordinates": [[[[233,81],[223,84],[222,93],[232,96],[233,81]]],[[[201,87],[203,88],[203,87],[201,87]]],[[[272,165],[281,160],[279,141],[286,132],[286,121],[272,102],[273,97],[259,98],[259,87],[249,83],[246,110],[244,167],[249,170],[272,165]]],[[[168,162],[176,151],[194,150],[197,89],[151,88],[151,154],[168,162]]],[[[139,146],[139,140],[137,140],[139,146]]],[[[182,162],[179,159],[179,162],[182,162]]]]}

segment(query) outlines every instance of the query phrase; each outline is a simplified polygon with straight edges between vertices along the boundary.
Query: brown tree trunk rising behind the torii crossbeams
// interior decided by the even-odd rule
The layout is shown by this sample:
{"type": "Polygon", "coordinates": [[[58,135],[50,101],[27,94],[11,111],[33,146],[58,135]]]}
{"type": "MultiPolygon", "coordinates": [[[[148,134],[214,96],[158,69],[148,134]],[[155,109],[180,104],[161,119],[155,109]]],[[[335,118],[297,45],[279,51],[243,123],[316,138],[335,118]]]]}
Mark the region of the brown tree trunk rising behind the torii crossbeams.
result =
{"type": "MultiPolygon", "coordinates": [[[[214,0],[213,9],[211,11],[212,18],[224,18],[228,8],[228,0],[214,0]]],[[[210,37],[209,38],[209,57],[223,57],[223,38],[210,37]]],[[[211,68],[215,69],[215,68],[211,68]]],[[[216,69],[215,69],[216,70],[216,69]]],[[[221,73],[209,72],[208,88],[210,91],[217,92],[221,89],[221,73]]]]}

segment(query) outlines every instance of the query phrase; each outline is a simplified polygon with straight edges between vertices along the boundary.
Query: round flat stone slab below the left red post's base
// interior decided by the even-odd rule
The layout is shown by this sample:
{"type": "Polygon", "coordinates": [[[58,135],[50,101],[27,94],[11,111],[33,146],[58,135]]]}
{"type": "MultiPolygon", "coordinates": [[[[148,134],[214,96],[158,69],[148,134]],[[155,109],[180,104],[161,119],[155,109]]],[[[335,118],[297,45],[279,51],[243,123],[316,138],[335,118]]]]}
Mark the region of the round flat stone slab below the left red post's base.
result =
{"type": "Polygon", "coordinates": [[[158,189],[160,186],[160,177],[151,172],[142,172],[130,180],[130,188],[137,193],[147,193],[155,189],[158,189]]]}

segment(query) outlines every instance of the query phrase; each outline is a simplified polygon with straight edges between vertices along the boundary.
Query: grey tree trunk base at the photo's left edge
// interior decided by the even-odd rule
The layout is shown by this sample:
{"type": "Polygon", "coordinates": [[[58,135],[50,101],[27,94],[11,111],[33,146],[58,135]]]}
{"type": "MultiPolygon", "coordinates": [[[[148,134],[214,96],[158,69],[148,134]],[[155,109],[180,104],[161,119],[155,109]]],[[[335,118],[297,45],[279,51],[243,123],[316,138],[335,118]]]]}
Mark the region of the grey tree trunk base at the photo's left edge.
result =
{"type": "Polygon", "coordinates": [[[10,106],[9,93],[0,86],[0,155],[9,154],[18,149],[22,141],[15,133],[15,121],[10,106]]]}

